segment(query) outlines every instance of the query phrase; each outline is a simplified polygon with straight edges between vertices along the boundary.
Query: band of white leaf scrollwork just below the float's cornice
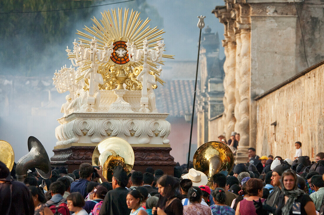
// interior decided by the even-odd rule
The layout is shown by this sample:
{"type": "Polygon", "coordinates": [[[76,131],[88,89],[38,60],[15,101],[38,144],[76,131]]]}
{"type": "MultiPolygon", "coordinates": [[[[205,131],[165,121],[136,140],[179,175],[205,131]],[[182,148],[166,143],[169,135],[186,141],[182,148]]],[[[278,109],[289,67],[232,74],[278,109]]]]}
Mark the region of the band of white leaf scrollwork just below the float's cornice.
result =
{"type": "MultiPolygon", "coordinates": [[[[56,127],[55,135],[58,140],[56,145],[78,143],[81,138],[90,138],[91,143],[97,144],[108,136],[117,136],[125,140],[128,140],[131,136],[136,137],[136,139],[129,140],[131,144],[168,144],[170,142],[168,135],[171,125],[166,120],[154,119],[156,114],[142,114],[144,119],[142,117],[140,119],[128,119],[133,114],[124,114],[125,119],[105,119],[106,117],[98,119],[95,114],[90,115],[91,119],[72,119],[56,127]],[[147,119],[145,119],[145,116],[147,119]],[[131,131],[134,131],[132,132],[133,135],[131,131]],[[155,137],[155,133],[158,133],[158,138],[153,140],[152,137],[155,137]]],[[[110,114],[104,115],[109,116],[110,114]]]]}

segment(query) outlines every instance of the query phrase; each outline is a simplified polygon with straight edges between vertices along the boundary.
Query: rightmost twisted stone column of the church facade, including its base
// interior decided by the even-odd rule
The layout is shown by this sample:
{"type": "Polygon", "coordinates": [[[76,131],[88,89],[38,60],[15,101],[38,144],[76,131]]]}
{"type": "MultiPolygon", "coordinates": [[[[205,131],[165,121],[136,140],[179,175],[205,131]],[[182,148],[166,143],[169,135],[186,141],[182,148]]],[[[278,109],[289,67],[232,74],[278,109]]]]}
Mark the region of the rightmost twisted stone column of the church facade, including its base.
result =
{"type": "Polygon", "coordinates": [[[251,44],[250,29],[242,29],[241,33],[241,68],[240,68],[240,86],[239,86],[239,131],[241,139],[237,147],[236,163],[246,162],[248,160],[249,148],[249,106],[250,106],[250,80],[251,80],[251,44]]]}

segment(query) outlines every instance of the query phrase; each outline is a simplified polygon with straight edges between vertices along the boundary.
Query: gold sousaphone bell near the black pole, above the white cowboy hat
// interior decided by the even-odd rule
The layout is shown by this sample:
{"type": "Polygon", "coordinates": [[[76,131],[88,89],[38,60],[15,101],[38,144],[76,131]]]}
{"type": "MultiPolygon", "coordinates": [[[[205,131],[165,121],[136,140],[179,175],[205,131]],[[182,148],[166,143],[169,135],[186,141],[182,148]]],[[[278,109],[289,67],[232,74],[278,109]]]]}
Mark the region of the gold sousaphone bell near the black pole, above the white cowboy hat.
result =
{"type": "Polygon", "coordinates": [[[213,175],[222,170],[230,172],[234,165],[232,150],[224,143],[211,141],[201,145],[193,155],[193,168],[208,177],[208,186],[213,185],[213,175]]]}

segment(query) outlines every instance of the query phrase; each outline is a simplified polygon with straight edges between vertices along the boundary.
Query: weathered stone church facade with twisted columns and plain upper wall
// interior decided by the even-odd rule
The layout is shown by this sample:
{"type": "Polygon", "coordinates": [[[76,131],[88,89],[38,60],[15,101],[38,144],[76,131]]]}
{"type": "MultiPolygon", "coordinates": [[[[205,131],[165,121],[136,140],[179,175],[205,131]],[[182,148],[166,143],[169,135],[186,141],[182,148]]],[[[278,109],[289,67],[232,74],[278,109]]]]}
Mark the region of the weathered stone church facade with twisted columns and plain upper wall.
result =
{"type": "Polygon", "coordinates": [[[225,95],[209,132],[240,133],[236,162],[260,141],[254,98],[324,59],[323,8],[320,0],[225,0],[213,10],[225,27],[225,95]]]}

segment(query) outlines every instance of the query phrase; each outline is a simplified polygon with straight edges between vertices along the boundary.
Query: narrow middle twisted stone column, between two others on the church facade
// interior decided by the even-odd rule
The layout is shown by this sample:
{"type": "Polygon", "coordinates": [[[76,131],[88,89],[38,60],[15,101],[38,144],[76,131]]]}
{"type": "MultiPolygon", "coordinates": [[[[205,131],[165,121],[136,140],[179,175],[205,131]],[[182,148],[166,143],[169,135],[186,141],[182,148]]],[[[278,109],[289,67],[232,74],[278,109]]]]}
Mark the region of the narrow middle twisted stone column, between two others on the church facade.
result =
{"type": "Polygon", "coordinates": [[[241,42],[241,35],[238,32],[235,34],[235,39],[236,39],[236,59],[235,59],[235,108],[234,108],[234,116],[236,119],[234,131],[237,133],[240,133],[239,129],[239,122],[240,122],[240,114],[239,114],[239,104],[241,101],[241,96],[239,93],[239,86],[241,83],[241,77],[240,77],[240,67],[241,67],[241,47],[242,47],[242,42],[241,42]]]}

